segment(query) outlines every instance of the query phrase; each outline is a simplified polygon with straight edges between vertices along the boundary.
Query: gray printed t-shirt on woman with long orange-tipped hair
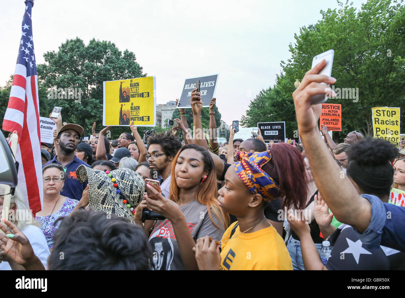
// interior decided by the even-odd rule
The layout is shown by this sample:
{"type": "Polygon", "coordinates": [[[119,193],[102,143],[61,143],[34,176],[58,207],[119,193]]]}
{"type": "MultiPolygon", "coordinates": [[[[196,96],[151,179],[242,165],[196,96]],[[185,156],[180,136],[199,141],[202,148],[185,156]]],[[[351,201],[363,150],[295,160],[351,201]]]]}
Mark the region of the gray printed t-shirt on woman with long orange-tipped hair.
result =
{"type": "MultiPolygon", "coordinates": [[[[204,236],[221,240],[225,232],[224,226],[211,210],[211,217],[220,228],[215,227],[208,215],[207,205],[200,204],[194,199],[192,202],[181,206],[180,209],[194,241],[204,236]]],[[[185,270],[173,226],[168,219],[156,222],[149,237],[149,244],[153,251],[153,265],[155,267],[152,270],[185,270]]]]}

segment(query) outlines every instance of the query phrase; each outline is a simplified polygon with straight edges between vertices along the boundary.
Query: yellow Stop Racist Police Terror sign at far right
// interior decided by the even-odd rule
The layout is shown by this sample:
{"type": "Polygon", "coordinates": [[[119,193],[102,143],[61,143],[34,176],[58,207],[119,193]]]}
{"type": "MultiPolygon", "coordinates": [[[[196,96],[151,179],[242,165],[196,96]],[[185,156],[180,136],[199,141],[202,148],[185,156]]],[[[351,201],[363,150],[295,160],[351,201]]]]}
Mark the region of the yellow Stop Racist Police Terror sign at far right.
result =
{"type": "Polygon", "coordinates": [[[399,143],[399,107],[373,107],[374,137],[386,139],[398,146],[399,143]]]}

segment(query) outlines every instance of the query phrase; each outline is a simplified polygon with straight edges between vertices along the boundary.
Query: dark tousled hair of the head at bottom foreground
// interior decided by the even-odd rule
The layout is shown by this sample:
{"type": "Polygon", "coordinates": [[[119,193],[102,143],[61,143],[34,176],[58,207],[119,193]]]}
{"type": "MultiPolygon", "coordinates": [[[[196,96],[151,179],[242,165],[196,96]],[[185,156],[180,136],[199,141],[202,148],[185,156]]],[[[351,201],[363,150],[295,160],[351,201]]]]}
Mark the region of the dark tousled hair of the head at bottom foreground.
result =
{"type": "Polygon", "coordinates": [[[56,223],[49,270],[149,270],[153,264],[143,229],[124,217],[78,210],[56,223]]]}

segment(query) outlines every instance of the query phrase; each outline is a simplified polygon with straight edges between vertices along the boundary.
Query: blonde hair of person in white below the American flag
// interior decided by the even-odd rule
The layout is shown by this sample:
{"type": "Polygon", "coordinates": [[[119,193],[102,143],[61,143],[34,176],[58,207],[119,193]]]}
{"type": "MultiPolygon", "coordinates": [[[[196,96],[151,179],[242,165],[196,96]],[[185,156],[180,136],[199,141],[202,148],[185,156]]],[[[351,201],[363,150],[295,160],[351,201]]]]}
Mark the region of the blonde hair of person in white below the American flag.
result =
{"type": "MultiPolygon", "coordinates": [[[[0,196],[4,197],[5,191],[6,184],[0,184],[0,196]]],[[[17,208],[14,213],[10,214],[10,221],[14,223],[21,231],[27,225],[40,227],[40,223],[32,216],[32,211],[28,206],[28,202],[26,202],[24,195],[18,186],[15,189],[14,195],[11,196],[10,210],[13,205],[16,205],[17,208]]]]}

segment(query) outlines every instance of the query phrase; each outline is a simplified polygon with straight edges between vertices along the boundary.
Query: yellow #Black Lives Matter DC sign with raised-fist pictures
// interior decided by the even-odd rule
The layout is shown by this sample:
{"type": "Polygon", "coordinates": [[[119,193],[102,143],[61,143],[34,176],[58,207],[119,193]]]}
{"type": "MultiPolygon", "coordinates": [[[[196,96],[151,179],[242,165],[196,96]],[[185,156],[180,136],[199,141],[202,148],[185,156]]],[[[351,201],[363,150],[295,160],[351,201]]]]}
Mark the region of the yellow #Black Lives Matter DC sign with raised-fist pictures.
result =
{"type": "Polygon", "coordinates": [[[103,125],[155,126],[156,78],[137,77],[118,81],[105,81],[103,125]]]}

